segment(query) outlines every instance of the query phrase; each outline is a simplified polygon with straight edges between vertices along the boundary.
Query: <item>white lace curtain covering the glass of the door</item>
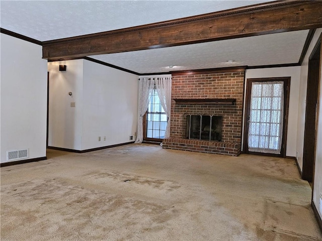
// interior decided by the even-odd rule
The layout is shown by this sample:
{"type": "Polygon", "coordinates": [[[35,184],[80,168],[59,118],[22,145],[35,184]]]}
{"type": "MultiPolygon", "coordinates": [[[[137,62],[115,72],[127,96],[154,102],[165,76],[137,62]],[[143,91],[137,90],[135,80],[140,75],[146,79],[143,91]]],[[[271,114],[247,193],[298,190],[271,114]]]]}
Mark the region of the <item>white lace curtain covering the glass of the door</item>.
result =
{"type": "Polygon", "coordinates": [[[283,133],[283,81],[253,82],[248,149],[280,154],[283,133]]]}

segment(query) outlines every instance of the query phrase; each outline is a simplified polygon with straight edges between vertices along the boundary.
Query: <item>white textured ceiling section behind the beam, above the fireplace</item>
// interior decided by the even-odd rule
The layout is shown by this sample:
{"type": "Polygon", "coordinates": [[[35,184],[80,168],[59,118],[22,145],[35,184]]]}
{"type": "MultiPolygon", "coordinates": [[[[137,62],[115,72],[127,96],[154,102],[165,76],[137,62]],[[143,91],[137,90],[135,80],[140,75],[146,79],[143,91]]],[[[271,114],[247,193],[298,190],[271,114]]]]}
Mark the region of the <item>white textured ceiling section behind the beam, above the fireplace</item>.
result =
{"type": "Polygon", "coordinates": [[[302,30],[90,57],[138,73],[288,64],[299,61],[307,34],[302,30]]]}

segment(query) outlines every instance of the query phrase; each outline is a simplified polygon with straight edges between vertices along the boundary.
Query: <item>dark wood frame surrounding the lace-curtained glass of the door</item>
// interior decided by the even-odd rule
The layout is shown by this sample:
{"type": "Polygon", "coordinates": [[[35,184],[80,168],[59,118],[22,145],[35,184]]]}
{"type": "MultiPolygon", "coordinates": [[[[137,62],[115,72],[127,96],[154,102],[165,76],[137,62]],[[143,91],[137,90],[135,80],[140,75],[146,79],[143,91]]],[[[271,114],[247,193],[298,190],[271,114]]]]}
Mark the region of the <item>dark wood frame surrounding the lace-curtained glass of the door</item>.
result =
{"type": "Polygon", "coordinates": [[[246,93],[245,93],[245,113],[244,113],[244,142],[243,150],[246,154],[254,154],[261,156],[273,156],[273,157],[286,157],[286,141],[287,141],[287,123],[288,123],[288,108],[289,108],[289,97],[290,97],[290,82],[291,77],[270,77],[270,78],[248,78],[246,80],[246,93]],[[282,137],[282,148],[281,154],[270,154],[270,153],[256,153],[248,151],[248,112],[251,107],[251,88],[253,82],[269,82],[269,81],[283,81],[284,82],[284,115],[283,115],[283,137],[282,137]]]}

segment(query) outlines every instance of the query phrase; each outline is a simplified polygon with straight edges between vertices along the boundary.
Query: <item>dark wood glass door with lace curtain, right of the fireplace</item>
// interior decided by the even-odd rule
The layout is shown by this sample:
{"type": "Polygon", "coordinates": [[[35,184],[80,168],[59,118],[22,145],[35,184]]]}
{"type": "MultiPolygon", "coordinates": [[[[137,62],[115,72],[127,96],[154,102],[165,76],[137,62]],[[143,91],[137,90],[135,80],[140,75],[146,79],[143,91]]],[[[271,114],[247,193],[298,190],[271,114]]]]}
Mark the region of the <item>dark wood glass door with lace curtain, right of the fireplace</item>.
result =
{"type": "Polygon", "coordinates": [[[244,152],[286,156],[290,77],[247,79],[244,152]]]}

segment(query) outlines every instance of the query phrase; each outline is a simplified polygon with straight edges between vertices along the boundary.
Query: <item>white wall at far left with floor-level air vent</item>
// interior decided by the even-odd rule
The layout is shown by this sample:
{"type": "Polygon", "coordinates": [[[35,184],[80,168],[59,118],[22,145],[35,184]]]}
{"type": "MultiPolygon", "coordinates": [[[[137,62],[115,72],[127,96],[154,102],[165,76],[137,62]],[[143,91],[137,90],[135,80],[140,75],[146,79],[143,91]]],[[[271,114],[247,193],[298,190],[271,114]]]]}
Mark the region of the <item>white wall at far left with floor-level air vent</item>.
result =
{"type": "MultiPolygon", "coordinates": [[[[7,151],[46,157],[47,60],[42,47],[1,34],[1,163],[7,151]]],[[[27,158],[26,158],[27,159],[27,158]]]]}

